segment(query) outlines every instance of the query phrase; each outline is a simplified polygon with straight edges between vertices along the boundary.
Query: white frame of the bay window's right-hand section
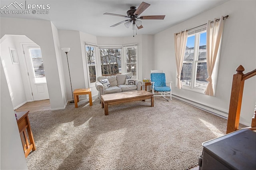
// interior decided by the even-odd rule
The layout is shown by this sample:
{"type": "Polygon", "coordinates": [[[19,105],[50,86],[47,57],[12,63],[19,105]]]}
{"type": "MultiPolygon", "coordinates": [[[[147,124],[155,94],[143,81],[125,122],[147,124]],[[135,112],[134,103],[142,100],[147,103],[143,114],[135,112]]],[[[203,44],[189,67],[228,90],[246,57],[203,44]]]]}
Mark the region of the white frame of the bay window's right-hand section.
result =
{"type": "Polygon", "coordinates": [[[136,79],[138,79],[138,44],[128,44],[128,45],[123,45],[123,65],[122,65],[122,70],[124,70],[124,73],[127,73],[126,65],[127,64],[136,64],[136,79]],[[126,50],[128,48],[136,48],[136,63],[127,63],[126,60],[126,50]],[[124,69],[123,69],[124,68],[124,69]]]}

